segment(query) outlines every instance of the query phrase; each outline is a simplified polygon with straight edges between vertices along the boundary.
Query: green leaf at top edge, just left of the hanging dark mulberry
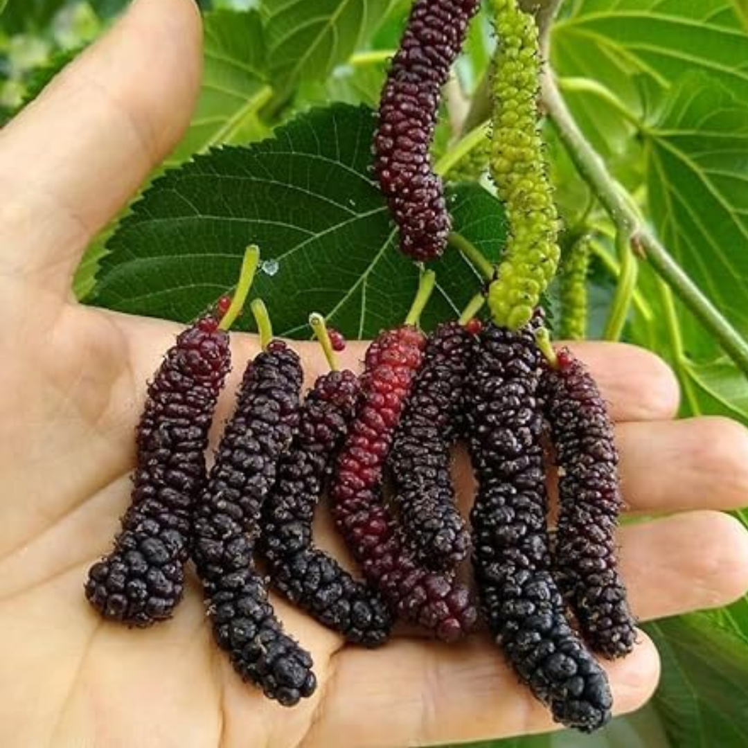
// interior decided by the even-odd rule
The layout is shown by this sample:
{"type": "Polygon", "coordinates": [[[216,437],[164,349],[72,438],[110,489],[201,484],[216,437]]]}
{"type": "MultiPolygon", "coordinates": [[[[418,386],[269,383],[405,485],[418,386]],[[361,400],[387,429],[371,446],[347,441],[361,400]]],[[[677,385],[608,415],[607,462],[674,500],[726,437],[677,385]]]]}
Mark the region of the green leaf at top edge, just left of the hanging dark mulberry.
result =
{"type": "Polygon", "coordinates": [[[322,79],[384,19],[391,0],[265,0],[274,80],[322,79]]]}

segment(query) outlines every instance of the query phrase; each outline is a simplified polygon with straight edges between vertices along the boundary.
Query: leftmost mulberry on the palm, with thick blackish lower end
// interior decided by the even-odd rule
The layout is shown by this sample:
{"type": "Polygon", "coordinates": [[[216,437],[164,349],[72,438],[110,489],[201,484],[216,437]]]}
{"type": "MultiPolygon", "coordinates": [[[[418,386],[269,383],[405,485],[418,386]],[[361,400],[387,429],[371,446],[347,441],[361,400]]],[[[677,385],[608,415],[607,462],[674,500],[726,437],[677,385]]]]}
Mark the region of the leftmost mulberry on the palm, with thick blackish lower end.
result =
{"type": "Polygon", "coordinates": [[[205,483],[204,451],[230,360],[228,335],[206,317],[177,337],[148,387],[132,503],[114,550],[85,585],[107,619],[149,626],[171,617],[182,598],[191,507],[205,483]]]}

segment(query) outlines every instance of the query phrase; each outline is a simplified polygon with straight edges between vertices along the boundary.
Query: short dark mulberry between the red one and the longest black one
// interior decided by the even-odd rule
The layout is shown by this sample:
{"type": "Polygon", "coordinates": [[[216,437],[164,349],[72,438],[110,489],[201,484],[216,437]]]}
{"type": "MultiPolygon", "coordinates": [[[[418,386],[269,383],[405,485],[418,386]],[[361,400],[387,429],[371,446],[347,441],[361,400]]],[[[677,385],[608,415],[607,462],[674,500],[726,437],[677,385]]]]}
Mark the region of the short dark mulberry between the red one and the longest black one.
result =
{"type": "Polygon", "coordinates": [[[405,543],[429,568],[453,570],[470,546],[456,506],[450,447],[462,432],[473,346],[459,322],[439,325],[429,336],[388,459],[405,543]]]}

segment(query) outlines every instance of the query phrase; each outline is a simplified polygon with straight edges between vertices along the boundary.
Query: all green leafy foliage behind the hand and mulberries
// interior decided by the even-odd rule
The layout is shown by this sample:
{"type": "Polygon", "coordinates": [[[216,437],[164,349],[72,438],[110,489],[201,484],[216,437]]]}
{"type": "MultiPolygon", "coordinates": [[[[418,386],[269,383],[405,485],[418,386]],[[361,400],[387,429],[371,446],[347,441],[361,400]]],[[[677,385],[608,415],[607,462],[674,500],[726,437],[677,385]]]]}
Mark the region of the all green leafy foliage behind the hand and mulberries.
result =
{"type": "MultiPolygon", "coordinates": [[[[123,8],[122,0],[0,0],[0,121],[123,8]]],[[[369,171],[369,140],[405,0],[212,0],[200,104],[167,167],[119,229],[93,242],[76,278],[83,301],[189,319],[236,277],[260,239],[260,292],[278,329],[303,337],[319,308],[351,337],[402,317],[416,271],[396,253],[369,171]],[[342,102],[329,107],[330,102],[342,102]],[[317,107],[317,108],[315,108],[317,107]],[[319,108],[325,107],[325,108],[319,108]],[[272,137],[274,136],[274,137],[272,137]],[[270,138],[270,139],[268,139],[270,138]],[[314,260],[312,260],[314,258],[314,260]],[[321,258],[321,259],[320,259],[321,258]],[[298,278],[303,278],[298,283],[298,278]],[[276,303],[274,304],[274,299],[276,303]]],[[[748,334],[748,6],[744,0],[568,0],[551,61],[587,138],[682,269],[748,334]]],[[[450,159],[492,49],[483,13],[448,87],[435,156],[450,159]]],[[[471,114],[468,114],[468,120],[471,114]]],[[[613,225],[548,129],[569,231],[593,236],[590,337],[601,337],[621,270],[613,225]]],[[[444,162],[443,162],[444,163],[444,162]]],[[[504,236],[485,180],[450,187],[456,229],[491,258],[504,236]]],[[[477,288],[447,253],[429,307],[449,316],[477,288]]],[[[647,263],[623,339],[663,356],[682,414],[748,425],[744,374],[647,263]]],[[[748,512],[738,512],[748,523],[748,512]]],[[[663,657],[654,700],[598,735],[561,732],[495,748],[726,748],[748,745],[748,599],[646,626],[663,657]]]]}

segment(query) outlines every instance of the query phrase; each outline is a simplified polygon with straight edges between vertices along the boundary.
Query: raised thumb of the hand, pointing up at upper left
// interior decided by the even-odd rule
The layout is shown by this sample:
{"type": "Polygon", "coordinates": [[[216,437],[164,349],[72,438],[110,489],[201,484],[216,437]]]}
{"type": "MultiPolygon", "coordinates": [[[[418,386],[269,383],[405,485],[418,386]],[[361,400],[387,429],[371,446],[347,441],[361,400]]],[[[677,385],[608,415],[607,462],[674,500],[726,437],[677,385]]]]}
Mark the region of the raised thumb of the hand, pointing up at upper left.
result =
{"type": "Polygon", "coordinates": [[[138,0],[3,129],[0,277],[67,290],[88,241],[182,135],[200,67],[195,4],[138,0]]]}

